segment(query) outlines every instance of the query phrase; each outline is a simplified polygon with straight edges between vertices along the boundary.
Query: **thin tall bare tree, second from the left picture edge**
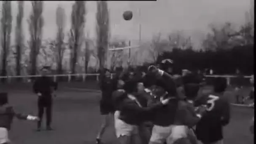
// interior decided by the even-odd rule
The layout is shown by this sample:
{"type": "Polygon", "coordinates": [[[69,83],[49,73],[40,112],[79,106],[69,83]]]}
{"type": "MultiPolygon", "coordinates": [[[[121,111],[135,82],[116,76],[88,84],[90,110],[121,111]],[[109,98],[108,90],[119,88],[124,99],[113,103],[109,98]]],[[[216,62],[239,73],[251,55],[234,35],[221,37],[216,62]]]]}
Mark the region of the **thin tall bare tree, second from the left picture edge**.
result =
{"type": "MultiPolygon", "coordinates": [[[[16,75],[21,75],[21,52],[23,47],[22,20],[24,17],[24,1],[18,1],[16,16],[16,75]]],[[[17,80],[20,80],[19,78],[17,80]]]]}

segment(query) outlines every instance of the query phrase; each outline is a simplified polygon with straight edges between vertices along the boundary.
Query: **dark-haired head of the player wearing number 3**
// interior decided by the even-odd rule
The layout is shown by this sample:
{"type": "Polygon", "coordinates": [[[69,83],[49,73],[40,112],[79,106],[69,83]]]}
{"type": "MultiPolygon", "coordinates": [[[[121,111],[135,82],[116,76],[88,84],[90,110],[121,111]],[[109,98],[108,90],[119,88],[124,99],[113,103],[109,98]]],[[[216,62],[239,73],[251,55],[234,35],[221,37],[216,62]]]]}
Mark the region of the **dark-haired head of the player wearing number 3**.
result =
{"type": "Polygon", "coordinates": [[[222,93],[227,88],[227,79],[225,77],[216,77],[213,81],[213,90],[216,93],[222,93]]]}

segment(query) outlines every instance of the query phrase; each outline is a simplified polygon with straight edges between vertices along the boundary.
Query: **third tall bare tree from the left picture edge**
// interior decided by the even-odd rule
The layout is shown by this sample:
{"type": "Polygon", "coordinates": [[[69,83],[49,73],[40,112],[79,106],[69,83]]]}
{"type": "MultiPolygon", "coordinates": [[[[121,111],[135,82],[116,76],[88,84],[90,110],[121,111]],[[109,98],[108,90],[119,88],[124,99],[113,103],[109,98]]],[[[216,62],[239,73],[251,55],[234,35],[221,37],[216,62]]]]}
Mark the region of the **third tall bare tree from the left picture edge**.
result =
{"type": "Polygon", "coordinates": [[[43,37],[43,1],[32,1],[32,12],[29,16],[29,33],[30,33],[30,75],[37,73],[37,56],[40,51],[43,37]]]}

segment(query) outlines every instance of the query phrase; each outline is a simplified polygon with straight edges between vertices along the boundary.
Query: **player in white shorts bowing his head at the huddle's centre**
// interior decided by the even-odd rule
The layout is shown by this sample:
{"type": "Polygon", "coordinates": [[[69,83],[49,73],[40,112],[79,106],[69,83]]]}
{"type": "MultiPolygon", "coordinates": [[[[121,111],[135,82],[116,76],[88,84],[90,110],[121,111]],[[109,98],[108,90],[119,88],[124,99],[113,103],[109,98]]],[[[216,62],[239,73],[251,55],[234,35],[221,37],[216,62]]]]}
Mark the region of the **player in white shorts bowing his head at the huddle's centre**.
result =
{"type": "MultiPolygon", "coordinates": [[[[179,129],[179,126],[173,125],[179,101],[176,83],[171,75],[155,66],[149,67],[147,75],[151,75],[151,77],[149,77],[150,80],[146,81],[149,81],[149,83],[145,83],[145,86],[148,84],[160,86],[167,93],[165,97],[170,98],[170,101],[165,107],[157,109],[152,113],[151,118],[154,126],[152,128],[149,144],[163,144],[166,142],[170,133],[175,130],[174,127],[179,129]]],[[[147,75],[145,77],[147,77],[147,75]]]]}

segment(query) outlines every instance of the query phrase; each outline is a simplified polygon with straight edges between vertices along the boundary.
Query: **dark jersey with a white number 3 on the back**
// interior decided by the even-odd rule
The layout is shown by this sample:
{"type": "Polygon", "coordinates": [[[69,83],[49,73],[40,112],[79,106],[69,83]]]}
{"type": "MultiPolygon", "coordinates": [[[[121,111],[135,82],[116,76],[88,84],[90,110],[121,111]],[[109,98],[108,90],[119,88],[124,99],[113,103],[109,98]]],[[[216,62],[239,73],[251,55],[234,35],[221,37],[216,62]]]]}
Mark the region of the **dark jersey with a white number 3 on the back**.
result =
{"type": "Polygon", "coordinates": [[[209,94],[200,99],[207,106],[207,111],[196,125],[197,139],[211,143],[223,139],[222,127],[229,123],[230,108],[221,94],[209,94]]]}

